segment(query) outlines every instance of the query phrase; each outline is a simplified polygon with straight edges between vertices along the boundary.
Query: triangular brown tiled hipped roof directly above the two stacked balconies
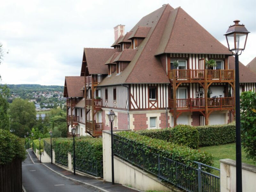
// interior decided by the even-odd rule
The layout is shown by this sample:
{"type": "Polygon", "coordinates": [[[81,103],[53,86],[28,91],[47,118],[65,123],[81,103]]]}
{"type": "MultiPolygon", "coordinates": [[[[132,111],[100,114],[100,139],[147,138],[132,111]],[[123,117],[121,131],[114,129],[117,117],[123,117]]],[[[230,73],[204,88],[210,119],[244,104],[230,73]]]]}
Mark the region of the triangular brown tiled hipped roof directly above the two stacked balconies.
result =
{"type": "Polygon", "coordinates": [[[232,53],[182,8],[170,12],[156,55],[162,53],[232,53]]]}

